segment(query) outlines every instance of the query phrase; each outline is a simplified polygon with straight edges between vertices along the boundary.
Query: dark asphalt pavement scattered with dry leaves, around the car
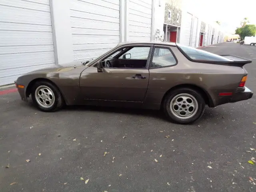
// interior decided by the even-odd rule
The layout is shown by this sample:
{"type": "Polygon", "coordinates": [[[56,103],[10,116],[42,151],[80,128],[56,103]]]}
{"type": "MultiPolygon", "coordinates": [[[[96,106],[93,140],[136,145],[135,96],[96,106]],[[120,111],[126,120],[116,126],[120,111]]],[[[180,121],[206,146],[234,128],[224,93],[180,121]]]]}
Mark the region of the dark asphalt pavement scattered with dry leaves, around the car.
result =
{"type": "MultiPolygon", "coordinates": [[[[253,59],[246,86],[256,92],[256,46],[203,49],[253,59]]],[[[150,110],[76,106],[44,113],[6,89],[0,90],[1,192],[256,191],[256,180],[249,181],[256,165],[248,163],[256,157],[255,95],[207,107],[195,124],[178,125],[150,110]]]]}

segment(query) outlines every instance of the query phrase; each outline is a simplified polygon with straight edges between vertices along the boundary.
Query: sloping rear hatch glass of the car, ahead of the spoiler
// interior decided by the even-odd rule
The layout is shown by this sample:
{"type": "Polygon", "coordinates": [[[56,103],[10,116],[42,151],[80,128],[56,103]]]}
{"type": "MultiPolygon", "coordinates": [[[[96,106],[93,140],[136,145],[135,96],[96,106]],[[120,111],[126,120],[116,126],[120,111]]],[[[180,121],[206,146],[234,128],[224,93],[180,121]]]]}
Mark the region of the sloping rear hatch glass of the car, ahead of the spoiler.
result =
{"type": "Polygon", "coordinates": [[[232,61],[207,51],[203,51],[203,50],[188,47],[188,46],[183,46],[180,44],[177,44],[177,45],[192,60],[232,61]]]}

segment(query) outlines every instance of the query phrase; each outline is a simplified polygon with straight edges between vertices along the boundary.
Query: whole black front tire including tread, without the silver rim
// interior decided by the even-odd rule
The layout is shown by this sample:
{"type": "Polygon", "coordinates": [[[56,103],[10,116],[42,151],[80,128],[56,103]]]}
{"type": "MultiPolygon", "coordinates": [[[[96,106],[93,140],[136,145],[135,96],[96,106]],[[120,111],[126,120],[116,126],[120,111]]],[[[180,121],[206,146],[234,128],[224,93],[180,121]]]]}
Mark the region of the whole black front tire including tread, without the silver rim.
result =
{"type": "Polygon", "coordinates": [[[62,108],[62,106],[64,105],[64,98],[63,98],[60,90],[54,84],[47,82],[47,81],[35,82],[34,85],[32,86],[31,96],[32,96],[34,105],[44,112],[54,112],[54,111],[62,108]],[[47,86],[52,90],[55,100],[51,107],[45,108],[45,107],[41,106],[40,104],[38,104],[36,97],[35,97],[35,93],[36,93],[36,89],[39,86],[47,86]]]}

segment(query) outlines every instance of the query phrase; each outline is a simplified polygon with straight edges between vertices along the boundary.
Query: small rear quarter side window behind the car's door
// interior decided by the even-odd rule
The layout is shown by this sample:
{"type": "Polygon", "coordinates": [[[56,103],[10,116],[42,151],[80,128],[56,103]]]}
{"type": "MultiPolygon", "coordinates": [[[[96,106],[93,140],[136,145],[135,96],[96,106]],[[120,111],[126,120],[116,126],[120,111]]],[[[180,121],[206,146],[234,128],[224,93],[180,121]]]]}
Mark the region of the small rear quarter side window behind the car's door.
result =
{"type": "Polygon", "coordinates": [[[154,49],[151,68],[161,68],[176,65],[176,59],[170,49],[158,48],[154,49]]]}

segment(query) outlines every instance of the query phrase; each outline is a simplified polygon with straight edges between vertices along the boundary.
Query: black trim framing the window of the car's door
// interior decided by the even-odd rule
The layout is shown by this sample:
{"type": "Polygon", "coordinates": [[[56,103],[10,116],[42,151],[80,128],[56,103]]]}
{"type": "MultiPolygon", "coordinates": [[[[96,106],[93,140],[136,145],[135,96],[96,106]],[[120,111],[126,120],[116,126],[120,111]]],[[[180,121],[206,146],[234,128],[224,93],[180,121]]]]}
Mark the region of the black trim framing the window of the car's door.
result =
{"type": "MultiPolygon", "coordinates": [[[[147,45],[147,44],[145,44],[145,45],[142,45],[142,44],[136,45],[136,44],[134,44],[134,45],[122,46],[122,47],[120,47],[120,48],[114,50],[114,51],[111,52],[110,54],[106,55],[105,57],[103,57],[103,58],[100,59],[100,60],[101,60],[101,61],[102,61],[102,60],[105,60],[106,58],[108,58],[108,56],[114,54],[115,52],[119,51],[120,49],[128,48],[127,50],[124,50],[124,51],[120,52],[119,54],[117,54],[117,55],[114,56],[113,58],[116,58],[117,56],[119,57],[119,56],[121,56],[122,54],[124,54],[125,52],[131,50],[131,49],[134,48],[134,47],[149,47],[149,48],[150,48],[150,50],[149,50],[149,52],[148,52],[148,58],[147,58],[147,62],[146,62],[145,68],[128,68],[128,67],[124,67],[124,68],[110,67],[110,68],[109,68],[109,67],[108,67],[108,69],[146,69],[146,70],[148,70],[149,63],[150,63],[150,59],[151,59],[151,55],[152,55],[152,50],[153,50],[153,45],[152,45],[152,44],[148,44],[148,45],[147,45]],[[129,49],[129,48],[130,48],[130,49],[129,49]]],[[[107,67],[103,67],[103,68],[107,68],[107,67]]]]}

